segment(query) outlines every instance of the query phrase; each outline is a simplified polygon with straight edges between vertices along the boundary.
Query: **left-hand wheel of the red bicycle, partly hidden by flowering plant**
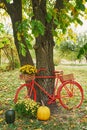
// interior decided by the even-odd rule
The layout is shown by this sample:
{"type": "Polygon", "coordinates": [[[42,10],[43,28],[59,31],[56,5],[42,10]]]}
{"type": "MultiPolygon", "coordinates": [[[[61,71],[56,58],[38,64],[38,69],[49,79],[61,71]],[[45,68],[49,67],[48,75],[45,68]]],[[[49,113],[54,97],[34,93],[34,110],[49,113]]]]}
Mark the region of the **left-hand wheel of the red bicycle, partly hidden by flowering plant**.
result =
{"type": "Polygon", "coordinates": [[[36,90],[31,84],[22,84],[16,91],[14,102],[23,98],[31,98],[36,101],[36,90]]]}

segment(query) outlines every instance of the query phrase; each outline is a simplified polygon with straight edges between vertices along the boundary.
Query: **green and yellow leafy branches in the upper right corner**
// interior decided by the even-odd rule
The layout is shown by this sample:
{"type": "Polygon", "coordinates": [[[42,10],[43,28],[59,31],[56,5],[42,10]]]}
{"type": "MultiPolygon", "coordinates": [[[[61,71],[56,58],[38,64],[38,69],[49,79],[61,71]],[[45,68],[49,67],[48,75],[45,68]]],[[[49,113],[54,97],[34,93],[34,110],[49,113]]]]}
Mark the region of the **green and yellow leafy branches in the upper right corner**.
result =
{"type": "Polygon", "coordinates": [[[64,8],[60,11],[56,9],[56,13],[54,13],[53,16],[51,13],[48,18],[53,19],[56,28],[61,29],[63,33],[66,33],[67,27],[69,27],[71,23],[83,24],[80,16],[83,16],[85,9],[86,7],[83,0],[64,1],[64,8]]]}

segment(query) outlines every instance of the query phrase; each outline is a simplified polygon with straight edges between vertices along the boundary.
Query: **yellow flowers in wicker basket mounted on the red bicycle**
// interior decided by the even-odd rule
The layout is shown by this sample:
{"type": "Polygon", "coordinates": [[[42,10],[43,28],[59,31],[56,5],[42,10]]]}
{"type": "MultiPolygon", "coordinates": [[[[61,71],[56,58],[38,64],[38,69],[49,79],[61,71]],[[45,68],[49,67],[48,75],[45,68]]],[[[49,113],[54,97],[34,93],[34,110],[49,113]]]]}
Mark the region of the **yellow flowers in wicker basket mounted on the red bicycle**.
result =
{"type": "Polygon", "coordinates": [[[29,81],[35,79],[35,73],[37,73],[37,69],[32,65],[24,65],[20,68],[20,79],[29,81]]]}

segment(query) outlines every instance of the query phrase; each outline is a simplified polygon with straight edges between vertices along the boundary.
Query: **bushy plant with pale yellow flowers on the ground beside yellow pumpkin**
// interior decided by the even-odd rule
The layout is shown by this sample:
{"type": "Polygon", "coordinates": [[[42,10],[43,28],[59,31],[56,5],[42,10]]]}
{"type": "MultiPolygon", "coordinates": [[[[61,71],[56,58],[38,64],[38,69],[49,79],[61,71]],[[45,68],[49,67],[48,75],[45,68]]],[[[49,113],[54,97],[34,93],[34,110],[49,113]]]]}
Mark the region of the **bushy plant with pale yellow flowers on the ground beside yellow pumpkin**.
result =
{"type": "Polygon", "coordinates": [[[30,118],[36,118],[38,108],[39,103],[29,98],[19,100],[14,106],[19,116],[28,116],[30,118]]]}

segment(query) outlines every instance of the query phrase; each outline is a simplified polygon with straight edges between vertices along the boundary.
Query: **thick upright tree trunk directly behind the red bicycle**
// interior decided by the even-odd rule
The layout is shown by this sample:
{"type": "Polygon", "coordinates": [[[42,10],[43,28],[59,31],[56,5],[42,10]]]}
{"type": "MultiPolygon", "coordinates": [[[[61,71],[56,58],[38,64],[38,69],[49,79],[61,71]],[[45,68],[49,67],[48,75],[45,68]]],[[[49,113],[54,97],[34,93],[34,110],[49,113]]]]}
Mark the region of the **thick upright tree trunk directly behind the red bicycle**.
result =
{"type": "MultiPolygon", "coordinates": [[[[46,0],[32,0],[34,18],[39,20],[45,26],[44,36],[39,35],[36,38],[36,44],[34,45],[36,53],[36,66],[37,69],[46,68],[46,72],[40,72],[39,75],[53,75],[54,62],[53,62],[53,47],[54,40],[52,35],[52,23],[46,21],[46,0]]],[[[41,84],[50,94],[53,93],[54,79],[39,79],[38,83],[41,84]]],[[[48,97],[37,89],[38,101],[43,100],[45,105],[47,104],[48,97]]],[[[51,112],[56,112],[57,105],[54,103],[49,106],[51,112]]]]}

